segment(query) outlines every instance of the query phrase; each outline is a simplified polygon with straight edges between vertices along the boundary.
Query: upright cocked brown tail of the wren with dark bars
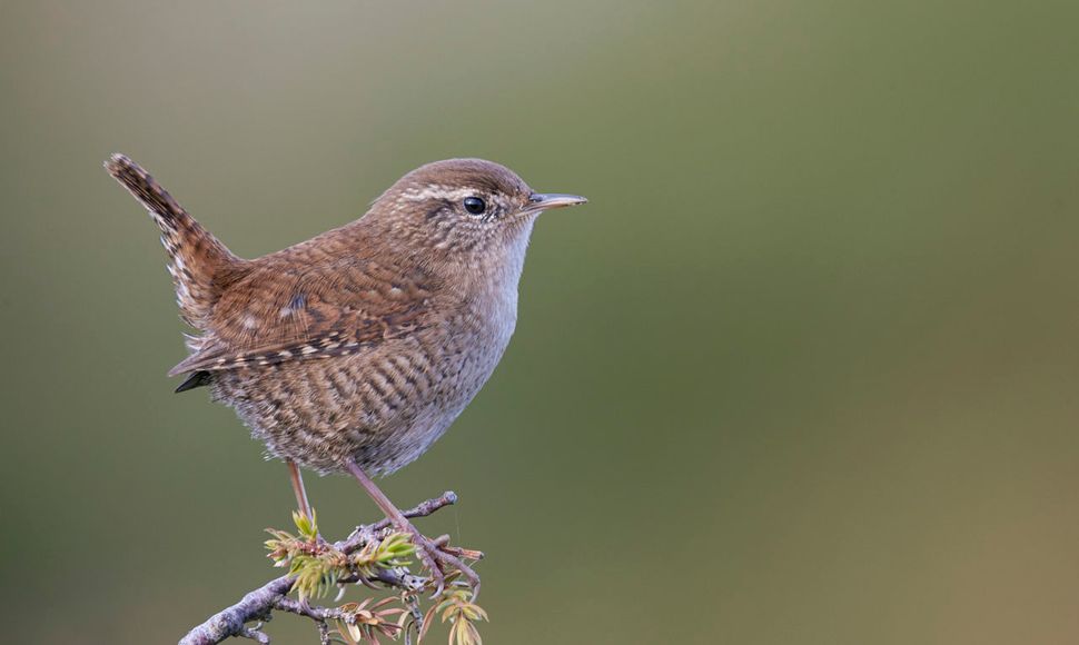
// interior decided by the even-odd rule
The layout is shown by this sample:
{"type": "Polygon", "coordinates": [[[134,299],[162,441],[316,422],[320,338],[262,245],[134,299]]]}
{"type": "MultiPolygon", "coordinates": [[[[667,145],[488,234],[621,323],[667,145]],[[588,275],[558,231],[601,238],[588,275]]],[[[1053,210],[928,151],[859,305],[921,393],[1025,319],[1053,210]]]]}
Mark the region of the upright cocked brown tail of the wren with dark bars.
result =
{"type": "Polygon", "coordinates": [[[244,260],[195,221],[135,161],[123,155],[113,155],[105,162],[105,168],[146,207],[160,227],[180,316],[192,327],[204,329],[225,285],[244,260]]]}

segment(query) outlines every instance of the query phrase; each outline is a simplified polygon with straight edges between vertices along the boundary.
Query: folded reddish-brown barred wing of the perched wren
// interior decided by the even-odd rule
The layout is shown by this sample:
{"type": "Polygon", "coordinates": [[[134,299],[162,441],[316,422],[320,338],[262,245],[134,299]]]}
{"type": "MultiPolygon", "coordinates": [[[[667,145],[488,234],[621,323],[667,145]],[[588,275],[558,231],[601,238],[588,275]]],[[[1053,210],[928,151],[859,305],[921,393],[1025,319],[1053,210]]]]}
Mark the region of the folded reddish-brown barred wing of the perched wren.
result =
{"type": "Polygon", "coordinates": [[[362,351],[424,327],[435,288],[419,267],[270,258],[225,292],[195,353],[169,375],[362,351]]]}

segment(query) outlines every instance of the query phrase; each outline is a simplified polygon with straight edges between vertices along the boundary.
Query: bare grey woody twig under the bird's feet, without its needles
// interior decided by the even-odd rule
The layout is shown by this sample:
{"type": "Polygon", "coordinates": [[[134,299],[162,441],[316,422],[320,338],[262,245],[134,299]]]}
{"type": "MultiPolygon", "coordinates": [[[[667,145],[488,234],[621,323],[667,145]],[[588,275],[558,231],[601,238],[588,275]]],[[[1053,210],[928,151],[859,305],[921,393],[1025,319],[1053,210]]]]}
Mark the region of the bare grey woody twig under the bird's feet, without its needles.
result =
{"type": "MultiPolygon", "coordinates": [[[[447,490],[440,497],[428,499],[415,508],[405,510],[404,515],[405,517],[425,517],[456,502],[457,495],[447,490]]],[[[368,543],[378,540],[379,533],[385,532],[389,526],[388,519],[357,526],[352,535],[335,543],[334,546],[345,554],[352,554],[362,549],[368,543]]],[[[274,609],[300,614],[321,625],[325,625],[326,619],[337,617],[335,609],[309,607],[306,604],[289,599],[287,597],[288,592],[293,588],[295,582],[294,576],[286,575],[266,583],[245,595],[235,605],[214,614],[205,623],[192,628],[180,639],[179,645],[215,645],[234,636],[251,638],[258,643],[269,643],[269,637],[260,631],[260,624],[255,627],[247,627],[247,623],[269,621],[270,613],[274,609]]],[[[423,586],[426,578],[414,576],[405,569],[379,569],[376,576],[369,580],[357,578],[341,582],[360,582],[368,585],[372,582],[379,582],[404,591],[415,591],[423,586]]],[[[320,626],[319,629],[321,631],[323,627],[320,626]]]]}

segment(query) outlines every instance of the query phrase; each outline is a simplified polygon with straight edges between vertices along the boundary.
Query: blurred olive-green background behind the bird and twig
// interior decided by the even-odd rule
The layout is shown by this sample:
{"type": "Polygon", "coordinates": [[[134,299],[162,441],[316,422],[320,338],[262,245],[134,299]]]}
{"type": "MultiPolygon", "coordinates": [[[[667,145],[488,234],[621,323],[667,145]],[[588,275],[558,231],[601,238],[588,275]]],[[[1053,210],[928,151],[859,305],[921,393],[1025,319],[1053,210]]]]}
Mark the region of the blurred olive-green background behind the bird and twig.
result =
{"type": "MultiPolygon", "coordinates": [[[[0,3],[3,641],[172,642],[285,467],[184,356],[143,163],[242,256],[479,156],[586,195],[385,480],[489,643],[1079,638],[1075,2],[0,3]]],[[[324,532],[377,517],[309,477],[324,532]]],[[[274,621],[276,643],[315,643],[274,621]]],[[[436,632],[442,642],[445,632],[436,632]]]]}

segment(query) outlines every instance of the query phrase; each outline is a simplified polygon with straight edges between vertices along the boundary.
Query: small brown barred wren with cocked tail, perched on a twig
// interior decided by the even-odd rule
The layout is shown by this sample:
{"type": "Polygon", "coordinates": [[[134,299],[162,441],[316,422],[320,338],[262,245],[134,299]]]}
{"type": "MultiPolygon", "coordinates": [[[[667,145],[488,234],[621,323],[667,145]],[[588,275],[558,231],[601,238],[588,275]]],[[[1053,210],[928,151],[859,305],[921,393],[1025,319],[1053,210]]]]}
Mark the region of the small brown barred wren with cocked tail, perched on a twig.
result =
{"type": "Polygon", "coordinates": [[[180,315],[198,335],[169,375],[209,386],[269,455],[350,473],[409,533],[442,588],[443,567],[476,574],[424,537],[375,486],[423,455],[498,364],[517,318],[517,281],[536,217],[584,204],[533,192],[481,159],[423,166],[367,214],[254,260],[232,255],[142,168],[106,168],[161,229],[180,315]]]}

